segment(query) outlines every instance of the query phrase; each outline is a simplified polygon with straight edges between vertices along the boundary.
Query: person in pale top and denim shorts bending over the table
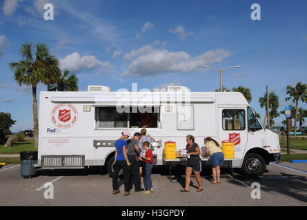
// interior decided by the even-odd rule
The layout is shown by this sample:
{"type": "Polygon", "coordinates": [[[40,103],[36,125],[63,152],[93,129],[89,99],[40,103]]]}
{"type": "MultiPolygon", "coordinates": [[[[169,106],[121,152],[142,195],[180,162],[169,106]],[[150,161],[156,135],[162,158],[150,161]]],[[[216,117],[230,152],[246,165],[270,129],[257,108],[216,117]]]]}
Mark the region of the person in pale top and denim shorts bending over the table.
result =
{"type": "Polygon", "coordinates": [[[207,137],[205,140],[206,153],[204,157],[210,155],[210,164],[212,166],[213,181],[210,184],[220,184],[219,176],[221,175],[220,166],[224,165],[224,153],[221,151],[221,146],[212,137],[207,137]]]}

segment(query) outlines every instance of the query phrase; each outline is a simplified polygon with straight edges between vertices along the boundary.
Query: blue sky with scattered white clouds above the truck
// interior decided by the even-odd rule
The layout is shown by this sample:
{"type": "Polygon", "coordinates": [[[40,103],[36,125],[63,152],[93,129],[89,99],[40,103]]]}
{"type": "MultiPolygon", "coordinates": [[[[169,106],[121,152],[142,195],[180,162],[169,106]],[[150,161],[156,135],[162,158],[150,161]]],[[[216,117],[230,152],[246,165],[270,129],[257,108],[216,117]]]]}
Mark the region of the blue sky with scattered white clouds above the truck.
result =
{"type": "MultiPolygon", "coordinates": [[[[61,69],[79,78],[79,90],[107,85],[116,91],[184,85],[192,91],[224,86],[250,88],[252,107],[264,119],[259,97],[266,85],[279,96],[279,111],[291,102],[286,85],[307,83],[306,1],[0,1],[0,111],[32,128],[32,94],[14,81],[8,63],[19,61],[22,43],[47,43],[61,69]],[[52,3],[55,20],[43,19],[52,3]],[[261,21],[252,21],[252,3],[261,21]]],[[[39,91],[46,85],[39,85],[39,91]]],[[[299,103],[307,109],[307,104],[299,103]]],[[[275,120],[281,124],[284,115],[275,120]]]]}

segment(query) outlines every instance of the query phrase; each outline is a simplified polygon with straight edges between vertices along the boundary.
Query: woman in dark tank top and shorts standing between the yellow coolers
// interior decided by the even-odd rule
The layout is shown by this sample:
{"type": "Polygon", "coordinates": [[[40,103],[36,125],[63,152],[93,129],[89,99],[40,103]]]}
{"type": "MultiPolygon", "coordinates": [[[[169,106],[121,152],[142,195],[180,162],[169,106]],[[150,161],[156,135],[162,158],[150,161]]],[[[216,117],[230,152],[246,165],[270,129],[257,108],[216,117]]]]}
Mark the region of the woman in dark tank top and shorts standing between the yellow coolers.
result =
{"type": "Polygon", "coordinates": [[[203,190],[202,181],[200,177],[201,172],[201,159],[200,148],[197,143],[195,143],[195,138],[192,135],[186,136],[186,150],[188,156],[188,162],[186,163],[186,187],[181,189],[181,192],[189,192],[189,186],[191,181],[192,171],[194,172],[195,178],[197,180],[198,189],[196,192],[201,192],[203,190]]]}

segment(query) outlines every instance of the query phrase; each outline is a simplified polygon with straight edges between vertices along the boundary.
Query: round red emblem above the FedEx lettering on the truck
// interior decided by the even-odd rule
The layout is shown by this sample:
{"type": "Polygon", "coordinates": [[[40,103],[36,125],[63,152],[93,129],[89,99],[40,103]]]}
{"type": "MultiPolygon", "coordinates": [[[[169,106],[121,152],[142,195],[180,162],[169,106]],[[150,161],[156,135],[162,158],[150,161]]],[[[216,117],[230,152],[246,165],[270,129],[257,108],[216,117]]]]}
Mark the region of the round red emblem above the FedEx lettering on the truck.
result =
{"type": "Polygon", "coordinates": [[[51,120],[59,129],[69,129],[78,120],[78,111],[73,104],[57,104],[51,111],[51,120]]]}

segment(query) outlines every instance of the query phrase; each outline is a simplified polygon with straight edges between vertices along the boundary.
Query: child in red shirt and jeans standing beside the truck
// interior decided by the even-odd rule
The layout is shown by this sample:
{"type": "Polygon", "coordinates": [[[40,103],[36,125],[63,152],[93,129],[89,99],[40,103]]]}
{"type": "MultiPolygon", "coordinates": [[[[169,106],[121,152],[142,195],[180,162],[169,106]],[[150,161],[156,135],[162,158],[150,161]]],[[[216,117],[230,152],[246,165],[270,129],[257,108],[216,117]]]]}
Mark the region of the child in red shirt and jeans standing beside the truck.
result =
{"type": "Polygon", "coordinates": [[[153,166],[153,155],[152,151],[149,148],[149,142],[143,142],[143,148],[146,151],[145,156],[142,159],[145,160],[145,184],[146,184],[146,192],[143,192],[144,195],[150,194],[153,192],[152,181],[151,181],[151,171],[153,166]]]}

